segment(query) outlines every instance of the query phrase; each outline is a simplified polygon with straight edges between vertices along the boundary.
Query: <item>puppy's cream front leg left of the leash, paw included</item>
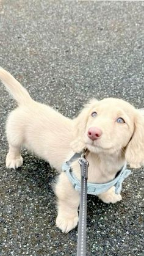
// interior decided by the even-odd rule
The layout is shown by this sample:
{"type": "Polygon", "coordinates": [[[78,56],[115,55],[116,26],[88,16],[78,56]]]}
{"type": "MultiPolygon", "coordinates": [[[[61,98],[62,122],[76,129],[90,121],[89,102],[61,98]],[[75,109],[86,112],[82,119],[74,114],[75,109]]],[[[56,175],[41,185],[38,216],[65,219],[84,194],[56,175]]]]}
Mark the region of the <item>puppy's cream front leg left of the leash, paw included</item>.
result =
{"type": "Polygon", "coordinates": [[[62,232],[68,233],[79,221],[77,209],[80,195],[68,180],[67,174],[63,172],[59,175],[55,192],[58,197],[56,225],[62,232]]]}

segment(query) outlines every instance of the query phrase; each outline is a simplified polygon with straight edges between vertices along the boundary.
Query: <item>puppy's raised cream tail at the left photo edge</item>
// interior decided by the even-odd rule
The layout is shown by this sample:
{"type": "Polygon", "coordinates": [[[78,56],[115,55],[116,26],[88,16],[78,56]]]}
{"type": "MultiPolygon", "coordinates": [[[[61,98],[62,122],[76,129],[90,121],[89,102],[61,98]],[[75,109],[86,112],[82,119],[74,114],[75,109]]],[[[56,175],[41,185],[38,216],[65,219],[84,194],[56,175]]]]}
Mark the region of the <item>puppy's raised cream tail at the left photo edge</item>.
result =
{"type": "Polygon", "coordinates": [[[8,92],[13,96],[13,98],[18,102],[18,104],[27,104],[29,101],[32,101],[31,96],[27,90],[21,86],[9,72],[0,67],[0,79],[2,83],[7,88],[8,92]]]}

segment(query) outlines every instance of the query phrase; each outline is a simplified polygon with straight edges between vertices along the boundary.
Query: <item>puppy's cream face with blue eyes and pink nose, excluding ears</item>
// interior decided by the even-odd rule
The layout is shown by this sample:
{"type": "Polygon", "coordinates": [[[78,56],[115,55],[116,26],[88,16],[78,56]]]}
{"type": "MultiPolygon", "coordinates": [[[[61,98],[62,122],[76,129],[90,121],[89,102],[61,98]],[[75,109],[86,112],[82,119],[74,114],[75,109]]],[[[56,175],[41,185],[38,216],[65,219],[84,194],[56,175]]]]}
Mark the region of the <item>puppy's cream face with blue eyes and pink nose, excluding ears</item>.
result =
{"type": "Polygon", "coordinates": [[[84,142],[93,153],[116,153],[126,147],[134,133],[132,111],[124,111],[117,104],[98,101],[88,113],[84,142]],[[131,115],[131,118],[130,118],[131,115]]]}

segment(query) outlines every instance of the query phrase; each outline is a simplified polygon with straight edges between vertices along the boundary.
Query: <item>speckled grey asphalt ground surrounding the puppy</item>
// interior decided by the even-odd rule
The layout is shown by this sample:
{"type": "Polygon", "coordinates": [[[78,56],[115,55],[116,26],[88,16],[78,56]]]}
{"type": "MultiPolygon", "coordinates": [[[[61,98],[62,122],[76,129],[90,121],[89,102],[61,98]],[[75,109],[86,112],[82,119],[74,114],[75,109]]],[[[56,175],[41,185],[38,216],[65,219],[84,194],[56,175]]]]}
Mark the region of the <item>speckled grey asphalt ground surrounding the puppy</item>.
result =
{"type": "MultiPolygon", "coordinates": [[[[89,98],[118,97],[144,106],[144,2],[0,1],[0,65],[35,100],[74,117],[89,98]]],[[[15,102],[0,86],[0,255],[76,255],[77,228],[56,228],[56,177],[23,152],[5,168],[5,120],[15,102]]],[[[88,196],[87,255],[143,254],[142,169],[124,181],[123,200],[88,196]]]]}

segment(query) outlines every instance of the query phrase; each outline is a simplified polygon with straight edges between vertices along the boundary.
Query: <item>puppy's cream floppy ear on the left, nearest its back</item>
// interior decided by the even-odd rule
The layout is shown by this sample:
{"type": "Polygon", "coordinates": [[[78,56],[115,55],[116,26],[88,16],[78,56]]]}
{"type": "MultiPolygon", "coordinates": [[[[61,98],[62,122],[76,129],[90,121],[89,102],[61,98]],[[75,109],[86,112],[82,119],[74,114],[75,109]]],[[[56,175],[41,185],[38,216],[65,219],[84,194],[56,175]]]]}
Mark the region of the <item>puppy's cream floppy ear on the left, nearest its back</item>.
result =
{"type": "Polygon", "coordinates": [[[90,100],[81,113],[73,119],[73,141],[71,142],[71,148],[74,152],[81,152],[85,148],[84,133],[87,126],[87,120],[89,117],[90,109],[95,106],[97,100],[90,100]]]}

